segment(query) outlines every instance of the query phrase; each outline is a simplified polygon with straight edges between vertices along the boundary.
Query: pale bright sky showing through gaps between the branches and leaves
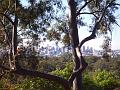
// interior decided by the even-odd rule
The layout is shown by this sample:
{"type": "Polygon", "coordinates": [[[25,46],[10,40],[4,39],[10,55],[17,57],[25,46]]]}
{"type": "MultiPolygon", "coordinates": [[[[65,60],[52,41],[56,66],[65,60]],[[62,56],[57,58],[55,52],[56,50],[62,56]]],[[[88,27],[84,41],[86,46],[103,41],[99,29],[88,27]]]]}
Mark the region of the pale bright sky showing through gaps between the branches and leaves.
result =
{"type": "MultiPolygon", "coordinates": [[[[23,2],[23,4],[26,6],[28,5],[25,0],[21,0],[23,2]]],[[[64,4],[67,5],[67,0],[63,0],[64,4]]],[[[118,2],[120,3],[120,0],[118,0],[118,2]]],[[[67,7],[68,8],[68,7],[67,7]]],[[[116,11],[117,16],[117,21],[118,24],[120,25],[120,9],[116,11]]],[[[87,17],[85,19],[86,21],[91,21],[90,17],[87,17]]],[[[83,38],[85,38],[86,36],[90,35],[89,33],[89,28],[88,27],[81,27],[79,29],[79,38],[80,40],[82,40],[83,38]]],[[[94,49],[101,49],[101,45],[103,42],[103,37],[97,37],[94,40],[88,41],[87,43],[85,43],[85,46],[90,46],[93,47],[94,49]]],[[[120,27],[118,27],[117,25],[113,26],[113,33],[112,33],[112,49],[120,49],[120,27]]]]}

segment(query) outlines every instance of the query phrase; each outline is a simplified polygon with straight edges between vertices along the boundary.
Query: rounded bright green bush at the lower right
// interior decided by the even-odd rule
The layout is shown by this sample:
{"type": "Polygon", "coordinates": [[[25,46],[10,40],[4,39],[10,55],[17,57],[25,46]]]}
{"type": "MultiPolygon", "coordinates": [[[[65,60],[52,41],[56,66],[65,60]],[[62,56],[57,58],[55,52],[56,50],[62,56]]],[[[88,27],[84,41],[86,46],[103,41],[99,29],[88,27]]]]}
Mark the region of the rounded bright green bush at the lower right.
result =
{"type": "Polygon", "coordinates": [[[106,70],[98,70],[93,75],[93,80],[102,90],[113,90],[117,85],[117,80],[111,72],[106,70]]]}

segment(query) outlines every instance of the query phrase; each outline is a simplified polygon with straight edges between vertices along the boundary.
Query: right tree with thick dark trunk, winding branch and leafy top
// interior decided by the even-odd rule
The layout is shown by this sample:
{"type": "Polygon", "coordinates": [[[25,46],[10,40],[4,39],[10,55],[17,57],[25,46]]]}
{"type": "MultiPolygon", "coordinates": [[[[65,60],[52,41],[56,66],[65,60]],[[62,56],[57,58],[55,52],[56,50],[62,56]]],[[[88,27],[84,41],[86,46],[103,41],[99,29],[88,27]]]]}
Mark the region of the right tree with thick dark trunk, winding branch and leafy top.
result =
{"type": "Polygon", "coordinates": [[[69,35],[71,40],[71,45],[73,49],[73,56],[75,62],[75,68],[69,79],[69,83],[73,82],[73,90],[82,89],[82,72],[87,67],[82,53],[82,45],[92,39],[96,38],[99,33],[106,33],[111,31],[111,26],[116,23],[114,12],[118,9],[116,0],[68,0],[69,6],[69,35]],[[88,7],[89,11],[85,11],[88,7]],[[81,21],[81,15],[88,14],[93,15],[93,26],[91,28],[91,34],[79,42],[78,36],[78,23],[81,21]]]}

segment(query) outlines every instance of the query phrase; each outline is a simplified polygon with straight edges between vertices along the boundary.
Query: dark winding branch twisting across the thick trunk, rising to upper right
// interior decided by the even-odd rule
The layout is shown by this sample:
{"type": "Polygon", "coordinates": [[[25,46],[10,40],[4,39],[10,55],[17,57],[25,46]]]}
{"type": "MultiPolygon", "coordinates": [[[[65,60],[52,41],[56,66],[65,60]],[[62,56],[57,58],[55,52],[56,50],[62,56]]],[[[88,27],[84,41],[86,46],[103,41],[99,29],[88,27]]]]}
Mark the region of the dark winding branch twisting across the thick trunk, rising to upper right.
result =
{"type": "MultiPolygon", "coordinates": [[[[111,2],[111,3],[112,3],[112,2],[111,2]]],[[[101,20],[103,19],[107,8],[109,7],[109,5],[110,5],[111,3],[109,3],[108,5],[106,5],[106,7],[104,8],[101,17],[96,21],[96,23],[95,23],[95,25],[94,25],[94,28],[93,28],[93,31],[92,31],[91,35],[88,36],[88,37],[86,37],[86,38],[84,38],[84,39],[81,41],[81,43],[79,44],[79,46],[77,47],[79,53],[80,53],[80,48],[82,47],[82,45],[83,45],[85,42],[87,42],[87,41],[89,41],[89,40],[91,40],[91,39],[94,39],[94,38],[96,37],[97,28],[98,28],[101,20]]],[[[76,53],[77,53],[77,50],[76,50],[76,53]]],[[[75,79],[76,75],[77,75],[78,73],[81,73],[81,72],[86,68],[86,65],[87,65],[87,63],[84,61],[84,58],[83,58],[82,54],[80,54],[78,57],[79,57],[79,60],[81,61],[80,67],[79,67],[77,70],[75,70],[75,71],[72,73],[71,77],[69,78],[69,83],[70,83],[70,84],[72,84],[72,82],[73,82],[73,80],[75,79]],[[82,65],[82,66],[81,66],[81,65],[82,65]]]]}

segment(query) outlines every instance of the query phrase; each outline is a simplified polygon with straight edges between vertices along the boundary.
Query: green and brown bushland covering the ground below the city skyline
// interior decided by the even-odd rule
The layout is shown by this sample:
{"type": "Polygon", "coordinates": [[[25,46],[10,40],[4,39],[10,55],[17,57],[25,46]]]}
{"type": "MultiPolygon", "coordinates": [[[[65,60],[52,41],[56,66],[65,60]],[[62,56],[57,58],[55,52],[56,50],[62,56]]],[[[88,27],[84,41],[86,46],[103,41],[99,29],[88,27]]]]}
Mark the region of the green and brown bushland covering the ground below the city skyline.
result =
{"type": "MultiPolygon", "coordinates": [[[[68,79],[72,72],[72,60],[65,55],[60,57],[46,58],[36,57],[38,66],[36,70],[48,72],[65,79],[68,79]]],[[[100,57],[85,57],[89,66],[84,72],[83,88],[84,90],[119,90],[120,89],[120,60],[112,58],[106,61],[100,57]],[[103,63],[104,62],[104,63],[103,63]]],[[[23,66],[29,61],[24,60],[23,66]]],[[[30,64],[30,62],[29,62],[30,64]]],[[[29,66],[29,65],[27,65],[29,66]]],[[[31,66],[26,67],[32,69],[31,66]]],[[[1,78],[0,88],[4,90],[63,90],[59,83],[48,81],[46,79],[20,76],[6,72],[1,78]]]]}

